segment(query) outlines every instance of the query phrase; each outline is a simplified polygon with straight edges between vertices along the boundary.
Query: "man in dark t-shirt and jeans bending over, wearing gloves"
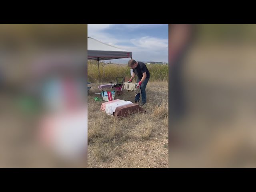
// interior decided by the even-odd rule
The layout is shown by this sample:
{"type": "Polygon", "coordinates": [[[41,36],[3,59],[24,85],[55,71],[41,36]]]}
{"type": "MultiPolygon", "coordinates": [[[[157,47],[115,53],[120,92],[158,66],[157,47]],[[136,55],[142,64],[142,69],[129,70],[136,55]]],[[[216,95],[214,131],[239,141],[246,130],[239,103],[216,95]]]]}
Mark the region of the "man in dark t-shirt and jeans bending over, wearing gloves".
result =
{"type": "MultiPolygon", "coordinates": [[[[150,78],[150,73],[148,71],[147,66],[143,62],[136,62],[136,60],[131,59],[128,62],[128,66],[132,68],[133,75],[128,81],[128,83],[132,82],[135,74],[138,76],[137,80],[137,88],[140,88],[142,105],[146,103],[146,86],[148,84],[148,80],[150,78]]],[[[140,93],[135,96],[135,102],[140,101],[140,93]]]]}

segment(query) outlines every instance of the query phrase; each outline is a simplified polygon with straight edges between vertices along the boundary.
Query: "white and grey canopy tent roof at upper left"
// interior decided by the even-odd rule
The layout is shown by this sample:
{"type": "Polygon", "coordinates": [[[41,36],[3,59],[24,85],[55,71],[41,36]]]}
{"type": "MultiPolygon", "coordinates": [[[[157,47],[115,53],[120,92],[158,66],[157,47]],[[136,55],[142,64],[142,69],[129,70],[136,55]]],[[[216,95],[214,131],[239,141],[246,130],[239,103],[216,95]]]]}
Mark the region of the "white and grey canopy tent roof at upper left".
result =
{"type": "Polygon", "coordinates": [[[100,42],[94,38],[87,37],[88,60],[111,60],[120,58],[132,58],[132,52],[125,51],[115,46],[100,42]]]}

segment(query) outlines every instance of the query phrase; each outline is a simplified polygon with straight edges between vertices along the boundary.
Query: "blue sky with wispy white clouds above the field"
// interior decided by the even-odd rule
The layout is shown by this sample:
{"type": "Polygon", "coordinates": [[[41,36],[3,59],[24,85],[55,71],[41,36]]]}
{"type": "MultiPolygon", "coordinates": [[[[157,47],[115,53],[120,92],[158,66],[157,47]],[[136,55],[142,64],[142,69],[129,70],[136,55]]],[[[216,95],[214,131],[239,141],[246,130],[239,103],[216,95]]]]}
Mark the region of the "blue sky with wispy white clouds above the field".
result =
{"type": "Polygon", "coordinates": [[[88,37],[131,51],[137,61],[168,62],[168,24],[88,24],[88,37]]]}

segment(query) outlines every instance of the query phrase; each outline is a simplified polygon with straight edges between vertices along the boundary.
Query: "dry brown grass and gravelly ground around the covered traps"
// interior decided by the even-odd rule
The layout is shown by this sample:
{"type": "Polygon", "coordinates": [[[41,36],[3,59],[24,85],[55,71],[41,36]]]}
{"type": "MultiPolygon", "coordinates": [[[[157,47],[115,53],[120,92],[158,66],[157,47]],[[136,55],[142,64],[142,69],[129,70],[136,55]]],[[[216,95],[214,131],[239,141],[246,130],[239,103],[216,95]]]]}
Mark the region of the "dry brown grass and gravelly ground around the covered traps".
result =
{"type": "MultiPolygon", "coordinates": [[[[168,168],[168,82],[148,82],[147,112],[108,116],[95,102],[98,84],[88,94],[88,167],[168,168]]],[[[124,91],[115,99],[134,101],[124,91]]]]}

